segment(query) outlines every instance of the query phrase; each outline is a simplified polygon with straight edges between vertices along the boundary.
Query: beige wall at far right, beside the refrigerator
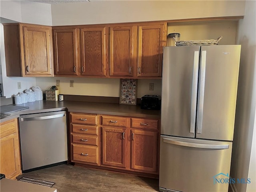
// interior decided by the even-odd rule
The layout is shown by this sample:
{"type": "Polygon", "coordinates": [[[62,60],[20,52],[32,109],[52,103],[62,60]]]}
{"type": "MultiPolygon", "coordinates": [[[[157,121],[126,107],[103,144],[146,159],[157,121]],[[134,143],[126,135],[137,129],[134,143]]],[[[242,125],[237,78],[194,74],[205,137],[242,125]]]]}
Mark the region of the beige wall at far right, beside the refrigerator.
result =
{"type": "MultiPolygon", "coordinates": [[[[250,184],[234,185],[237,192],[256,191],[255,108],[256,108],[256,1],[246,1],[244,19],[238,23],[241,59],[236,104],[232,178],[251,178],[250,184]],[[254,135],[254,140],[253,136],[254,135]],[[253,145],[252,145],[253,144],[253,145]],[[249,170],[249,168],[251,168],[249,170]],[[250,174],[249,174],[250,173],[250,174]]],[[[234,190],[234,191],[236,191],[234,190]]]]}

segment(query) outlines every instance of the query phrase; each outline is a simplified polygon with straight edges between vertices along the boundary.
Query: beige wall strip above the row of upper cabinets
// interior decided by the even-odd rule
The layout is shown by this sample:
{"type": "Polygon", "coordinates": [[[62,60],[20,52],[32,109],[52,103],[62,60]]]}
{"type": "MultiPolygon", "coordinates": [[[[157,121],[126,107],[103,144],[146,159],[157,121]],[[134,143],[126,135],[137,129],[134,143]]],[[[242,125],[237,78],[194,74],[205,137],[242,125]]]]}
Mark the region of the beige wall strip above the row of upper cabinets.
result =
{"type": "Polygon", "coordinates": [[[52,24],[77,25],[244,15],[244,1],[107,0],[52,5],[52,24]]]}

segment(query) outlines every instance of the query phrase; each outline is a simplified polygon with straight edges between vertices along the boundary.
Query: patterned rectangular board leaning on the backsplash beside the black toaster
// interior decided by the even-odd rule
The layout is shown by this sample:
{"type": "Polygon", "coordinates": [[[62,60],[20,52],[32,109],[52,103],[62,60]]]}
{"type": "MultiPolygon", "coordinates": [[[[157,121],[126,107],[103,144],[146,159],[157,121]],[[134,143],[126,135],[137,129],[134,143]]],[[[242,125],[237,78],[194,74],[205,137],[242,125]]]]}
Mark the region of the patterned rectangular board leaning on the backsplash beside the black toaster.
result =
{"type": "Polygon", "coordinates": [[[137,79],[121,79],[119,104],[136,105],[137,79]]]}

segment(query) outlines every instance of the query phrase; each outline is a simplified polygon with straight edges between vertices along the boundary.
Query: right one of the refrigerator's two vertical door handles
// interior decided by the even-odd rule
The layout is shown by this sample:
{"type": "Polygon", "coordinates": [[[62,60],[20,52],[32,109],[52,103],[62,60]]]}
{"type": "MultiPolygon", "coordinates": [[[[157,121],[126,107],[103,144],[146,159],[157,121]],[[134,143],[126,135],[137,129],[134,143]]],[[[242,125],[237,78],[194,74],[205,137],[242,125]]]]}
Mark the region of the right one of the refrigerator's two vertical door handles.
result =
{"type": "Polygon", "coordinates": [[[206,70],[206,51],[202,51],[201,66],[200,66],[200,84],[199,84],[199,105],[197,118],[197,133],[202,133],[203,109],[204,109],[204,84],[205,84],[205,70],[206,70]]]}

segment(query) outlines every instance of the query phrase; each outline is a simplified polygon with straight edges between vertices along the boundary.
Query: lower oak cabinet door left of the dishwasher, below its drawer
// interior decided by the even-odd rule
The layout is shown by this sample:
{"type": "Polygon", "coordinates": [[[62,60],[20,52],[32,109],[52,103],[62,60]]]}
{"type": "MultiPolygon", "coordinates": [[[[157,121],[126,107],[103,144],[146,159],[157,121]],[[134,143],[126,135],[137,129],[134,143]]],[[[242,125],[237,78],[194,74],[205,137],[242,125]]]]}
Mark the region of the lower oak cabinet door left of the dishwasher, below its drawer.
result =
{"type": "Polygon", "coordinates": [[[0,156],[1,173],[8,179],[16,179],[16,176],[21,174],[17,132],[0,139],[0,156]]]}

